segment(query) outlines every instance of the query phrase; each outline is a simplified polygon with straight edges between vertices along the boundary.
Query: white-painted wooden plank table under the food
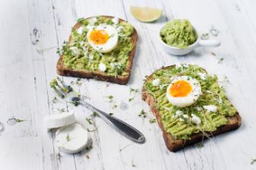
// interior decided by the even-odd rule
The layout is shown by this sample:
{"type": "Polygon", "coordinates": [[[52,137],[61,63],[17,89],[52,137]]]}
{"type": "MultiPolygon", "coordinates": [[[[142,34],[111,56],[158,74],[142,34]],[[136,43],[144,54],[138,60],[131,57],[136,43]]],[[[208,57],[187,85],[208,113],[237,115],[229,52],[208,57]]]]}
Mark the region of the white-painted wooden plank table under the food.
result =
{"type": "MultiPolygon", "coordinates": [[[[255,169],[256,159],[256,2],[253,0],[2,0],[0,1],[0,169],[255,169]],[[164,16],[153,24],[139,23],[130,14],[130,5],[164,9],[164,16]],[[81,80],[76,90],[88,96],[98,108],[142,131],[146,143],[139,145],[117,134],[100,118],[80,106],[57,101],[49,82],[56,77],[57,47],[67,39],[79,17],[113,15],[136,27],[139,33],[133,74],[125,85],[97,80],[81,80]],[[197,49],[189,55],[166,54],[157,42],[157,31],[167,20],[188,18],[200,33],[210,27],[219,30],[222,46],[197,49]],[[216,54],[216,56],[214,55],[216,54]],[[220,58],[224,58],[219,62],[220,58]],[[231,102],[242,115],[238,131],[219,135],[203,148],[189,146],[169,152],[158,124],[150,124],[152,114],[140,94],[130,88],[142,87],[143,78],[174,63],[194,63],[218,74],[231,102]],[[227,81],[229,80],[229,82],[227,81]],[[109,85],[107,85],[109,84],[109,85]],[[117,109],[107,102],[114,96],[117,109]],[[126,103],[128,109],[120,109],[126,103]],[[54,133],[43,128],[43,116],[61,109],[75,112],[90,130],[91,150],[75,155],[59,153],[54,133]],[[139,118],[144,109],[148,118],[139,118]],[[13,122],[10,118],[25,121],[13,122]],[[9,121],[8,121],[9,120],[9,121]],[[4,129],[3,129],[4,128],[4,129]]],[[[77,79],[64,77],[66,82],[77,79]]]]}

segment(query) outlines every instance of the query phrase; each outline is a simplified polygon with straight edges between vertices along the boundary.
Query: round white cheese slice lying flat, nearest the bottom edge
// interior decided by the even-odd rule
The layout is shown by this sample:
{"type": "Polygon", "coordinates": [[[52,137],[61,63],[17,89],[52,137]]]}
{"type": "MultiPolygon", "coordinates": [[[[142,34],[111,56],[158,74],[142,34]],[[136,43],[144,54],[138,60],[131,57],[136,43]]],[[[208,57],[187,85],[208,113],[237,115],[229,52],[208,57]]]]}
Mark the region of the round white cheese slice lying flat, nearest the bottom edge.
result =
{"type": "Polygon", "coordinates": [[[56,131],[56,143],[63,153],[79,153],[88,144],[88,132],[80,124],[71,124],[56,131]]]}

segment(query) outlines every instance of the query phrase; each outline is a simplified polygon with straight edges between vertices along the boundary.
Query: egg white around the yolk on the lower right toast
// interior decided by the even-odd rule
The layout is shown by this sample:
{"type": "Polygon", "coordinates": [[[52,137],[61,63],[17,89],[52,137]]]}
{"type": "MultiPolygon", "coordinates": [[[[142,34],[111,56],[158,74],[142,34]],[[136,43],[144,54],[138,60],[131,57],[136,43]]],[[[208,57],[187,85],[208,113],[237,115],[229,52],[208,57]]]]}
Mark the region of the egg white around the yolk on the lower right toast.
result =
{"type": "Polygon", "coordinates": [[[197,79],[194,79],[189,76],[180,76],[180,77],[174,77],[171,80],[171,83],[169,84],[167,90],[166,90],[166,97],[169,102],[171,102],[172,105],[177,105],[178,107],[184,108],[189,105],[193,105],[198,97],[202,94],[200,83],[197,79]],[[174,97],[171,96],[169,93],[171,86],[173,83],[175,83],[178,80],[185,80],[188,83],[190,83],[190,86],[192,87],[192,91],[184,97],[174,97]]]}

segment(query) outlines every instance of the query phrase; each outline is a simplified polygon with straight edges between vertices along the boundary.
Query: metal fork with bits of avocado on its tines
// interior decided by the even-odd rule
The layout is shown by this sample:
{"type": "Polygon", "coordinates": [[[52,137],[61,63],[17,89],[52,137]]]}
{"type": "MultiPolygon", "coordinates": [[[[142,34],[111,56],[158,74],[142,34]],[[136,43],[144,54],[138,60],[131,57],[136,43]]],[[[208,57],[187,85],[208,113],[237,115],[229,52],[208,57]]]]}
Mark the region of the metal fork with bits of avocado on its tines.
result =
{"type": "Polygon", "coordinates": [[[144,135],[133,128],[130,124],[126,124],[126,122],[121,121],[118,118],[115,118],[112,115],[108,115],[106,112],[101,111],[100,109],[95,108],[90,105],[88,102],[82,100],[78,93],[76,93],[72,87],[66,85],[63,80],[59,77],[53,79],[50,83],[50,86],[57,93],[57,95],[64,99],[66,102],[72,102],[75,105],[84,105],[87,109],[90,109],[92,112],[97,112],[99,117],[101,117],[110,127],[114,128],[120,134],[123,134],[124,137],[127,137],[130,140],[133,140],[136,143],[145,143],[146,138],[144,135]],[[61,85],[59,85],[61,84],[61,85]]]}

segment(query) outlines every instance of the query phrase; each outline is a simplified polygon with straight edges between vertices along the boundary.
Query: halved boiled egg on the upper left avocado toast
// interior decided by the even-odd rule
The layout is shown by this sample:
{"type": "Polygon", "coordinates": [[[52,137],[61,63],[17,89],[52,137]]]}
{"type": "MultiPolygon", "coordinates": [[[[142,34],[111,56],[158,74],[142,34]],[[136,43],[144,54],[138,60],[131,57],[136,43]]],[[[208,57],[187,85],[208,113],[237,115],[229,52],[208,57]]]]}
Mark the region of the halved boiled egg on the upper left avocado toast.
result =
{"type": "Polygon", "coordinates": [[[112,51],[118,42],[117,30],[110,25],[99,25],[89,30],[87,38],[90,46],[102,53],[112,51]]]}

